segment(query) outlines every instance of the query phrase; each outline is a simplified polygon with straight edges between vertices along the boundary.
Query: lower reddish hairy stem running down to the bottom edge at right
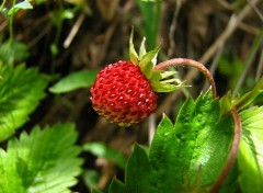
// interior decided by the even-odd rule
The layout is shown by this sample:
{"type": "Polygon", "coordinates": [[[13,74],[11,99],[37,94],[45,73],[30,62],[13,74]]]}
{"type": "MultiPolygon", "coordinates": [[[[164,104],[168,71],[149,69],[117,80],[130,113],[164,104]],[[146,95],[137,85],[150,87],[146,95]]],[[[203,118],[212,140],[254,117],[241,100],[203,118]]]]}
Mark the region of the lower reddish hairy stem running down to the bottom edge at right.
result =
{"type": "Polygon", "coordinates": [[[235,163],[235,160],[238,156],[239,143],[240,143],[241,133],[242,133],[242,125],[241,125],[241,121],[240,121],[239,114],[236,109],[231,110],[231,114],[232,114],[233,122],[235,122],[233,141],[232,141],[229,155],[228,155],[227,162],[226,162],[224,169],[221,170],[221,173],[219,174],[217,181],[213,185],[210,193],[219,192],[220,186],[222,185],[224,181],[226,180],[226,178],[227,178],[228,173],[230,172],[231,167],[235,163]]]}

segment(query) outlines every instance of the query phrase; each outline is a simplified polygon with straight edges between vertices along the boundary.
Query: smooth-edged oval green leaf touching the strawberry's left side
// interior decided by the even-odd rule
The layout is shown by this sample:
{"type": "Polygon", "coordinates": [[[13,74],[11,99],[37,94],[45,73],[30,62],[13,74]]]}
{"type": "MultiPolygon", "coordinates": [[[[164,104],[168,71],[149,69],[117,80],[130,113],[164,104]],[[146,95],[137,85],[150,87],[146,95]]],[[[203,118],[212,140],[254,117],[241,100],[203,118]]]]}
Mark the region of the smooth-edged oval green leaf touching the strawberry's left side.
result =
{"type": "Polygon", "coordinates": [[[71,72],[49,88],[53,93],[66,93],[80,88],[90,88],[98,75],[96,70],[81,70],[71,72]]]}

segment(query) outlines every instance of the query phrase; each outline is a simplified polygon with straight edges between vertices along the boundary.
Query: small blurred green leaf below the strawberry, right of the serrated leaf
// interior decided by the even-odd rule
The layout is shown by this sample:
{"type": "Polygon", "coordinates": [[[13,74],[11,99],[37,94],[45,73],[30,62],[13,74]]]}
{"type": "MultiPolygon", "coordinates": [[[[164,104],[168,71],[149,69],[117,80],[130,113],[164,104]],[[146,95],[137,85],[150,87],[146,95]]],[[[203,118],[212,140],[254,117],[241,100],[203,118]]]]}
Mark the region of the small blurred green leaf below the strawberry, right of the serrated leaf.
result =
{"type": "Polygon", "coordinates": [[[127,159],[124,157],[124,155],[115,149],[110,148],[103,143],[88,143],[84,144],[82,148],[84,151],[89,151],[100,158],[105,158],[113,161],[123,169],[126,166],[127,159]]]}

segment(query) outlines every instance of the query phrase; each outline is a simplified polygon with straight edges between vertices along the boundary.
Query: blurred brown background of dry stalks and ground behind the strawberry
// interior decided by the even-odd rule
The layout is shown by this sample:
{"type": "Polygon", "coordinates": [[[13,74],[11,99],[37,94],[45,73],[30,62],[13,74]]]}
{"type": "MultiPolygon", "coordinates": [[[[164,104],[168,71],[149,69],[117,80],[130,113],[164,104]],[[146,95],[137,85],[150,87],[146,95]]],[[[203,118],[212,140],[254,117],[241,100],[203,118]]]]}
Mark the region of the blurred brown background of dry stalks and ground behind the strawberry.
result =
{"type": "MultiPolygon", "coordinates": [[[[4,7],[12,3],[7,0],[4,7]]],[[[159,63],[184,57],[204,64],[214,75],[220,96],[228,90],[238,96],[251,90],[262,77],[262,0],[34,0],[31,3],[33,9],[20,10],[14,15],[12,30],[7,15],[0,15],[0,50],[11,34],[15,39],[14,64],[37,67],[50,80],[49,87],[72,72],[96,73],[111,63],[127,60],[132,27],[136,48],[144,36],[148,50],[161,46],[159,63]]],[[[8,56],[0,57],[9,63],[8,56]]],[[[162,113],[174,121],[187,96],[196,99],[208,89],[201,72],[190,68],[176,70],[178,77],[192,87],[159,94],[157,112],[144,123],[129,128],[107,123],[93,111],[89,88],[80,88],[64,93],[47,90],[23,129],[58,122],[76,123],[79,144],[102,144],[87,147],[81,155],[85,159],[83,174],[73,190],[88,192],[91,185],[106,189],[113,177],[124,178],[123,157],[118,152],[127,158],[134,143],[148,145],[149,127],[156,127],[162,113]],[[110,156],[100,156],[101,149],[110,156]]],[[[262,98],[259,96],[258,104],[263,103],[262,98]]]]}

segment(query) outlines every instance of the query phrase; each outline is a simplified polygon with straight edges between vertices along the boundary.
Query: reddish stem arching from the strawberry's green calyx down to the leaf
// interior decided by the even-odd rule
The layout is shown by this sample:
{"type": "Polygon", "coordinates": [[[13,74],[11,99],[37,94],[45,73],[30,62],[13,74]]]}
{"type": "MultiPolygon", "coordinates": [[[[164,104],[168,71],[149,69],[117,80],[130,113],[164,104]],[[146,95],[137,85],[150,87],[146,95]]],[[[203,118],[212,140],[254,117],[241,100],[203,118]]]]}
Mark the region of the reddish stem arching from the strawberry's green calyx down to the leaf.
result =
{"type": "Polygon", "coordinates": [[[195,61],[195,60],[188,59],[188,58],[173,58],[173,59],[158,64],[153,68],[153,70],[164,70],[168,67],[179,67],[179,66],[194,67],[194,68],[197,68],[199,71],[202,71],[211,86],[213,98],[215,99],[217,96],[216,84],[213,79],[213,76],[210,75],[209,70],[203,64],[201,64],[198,61],[195,61]]]}

